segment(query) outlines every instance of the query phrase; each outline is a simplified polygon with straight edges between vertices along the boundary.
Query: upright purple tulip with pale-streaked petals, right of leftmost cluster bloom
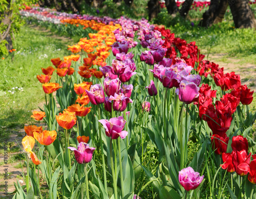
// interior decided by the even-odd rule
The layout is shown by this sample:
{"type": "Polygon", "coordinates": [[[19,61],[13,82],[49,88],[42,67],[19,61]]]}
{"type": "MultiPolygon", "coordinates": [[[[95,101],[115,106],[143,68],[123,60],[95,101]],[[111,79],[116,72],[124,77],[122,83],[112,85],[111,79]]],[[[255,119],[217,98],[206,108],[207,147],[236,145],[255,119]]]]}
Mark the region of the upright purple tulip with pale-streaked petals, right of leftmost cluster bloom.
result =
{"type": "Polygon", "coordinates": [[[110,96],[114,95],[115,93],[119,94],[121,89],[121,81],[119,80],[119,78],[111,80],[109,79],[109,76],[107,76],[104,79],[103,86],[106,95],[110,96]]]}

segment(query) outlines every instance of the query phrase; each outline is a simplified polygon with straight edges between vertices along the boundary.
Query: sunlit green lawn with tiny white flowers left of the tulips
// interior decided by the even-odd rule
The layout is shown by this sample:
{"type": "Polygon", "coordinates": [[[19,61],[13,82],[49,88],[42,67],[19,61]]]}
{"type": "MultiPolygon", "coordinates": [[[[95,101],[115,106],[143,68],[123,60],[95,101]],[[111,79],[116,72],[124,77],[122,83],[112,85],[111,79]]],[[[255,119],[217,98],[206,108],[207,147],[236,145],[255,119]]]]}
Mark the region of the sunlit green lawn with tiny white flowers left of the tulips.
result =
{"type": "MultiPolygon", "coordinates": [[[[8,137],[12,129],[19,129],[30,118],[31,110],[44,102],[44,91],[36,76],[41,68],[51,64],[50,59],[67,56],[67,41],[48,32],[29,26],[21,28],[16,35],[14,48],[17,49],[4,60],[0,60],[0,136],[8,137]],[[14,92],[12,94],[11,92],[14,92]],[[5,94],[6,93],[6,94],[5,94]]],[[[70,41],[72,43],[72,40],[70,41]]],[[[54,77],[52,80],[54,81],[54,77]]]]}

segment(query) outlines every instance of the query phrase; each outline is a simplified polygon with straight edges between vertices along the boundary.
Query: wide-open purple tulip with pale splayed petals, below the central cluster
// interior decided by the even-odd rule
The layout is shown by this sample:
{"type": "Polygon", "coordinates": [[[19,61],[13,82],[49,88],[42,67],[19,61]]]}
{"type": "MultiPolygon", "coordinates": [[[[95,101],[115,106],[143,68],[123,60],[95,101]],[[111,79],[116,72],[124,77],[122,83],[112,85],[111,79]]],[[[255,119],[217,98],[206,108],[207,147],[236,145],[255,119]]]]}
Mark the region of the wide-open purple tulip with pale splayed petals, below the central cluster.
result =
{"type": "Polygon", "coordinates": [[[126,121],[122,116],[110,118],[109,121],[102,119],[99,120],[99,122],[102,123],[103,127],[106,129],[106,136],[113,140],[118,139],[119,136],[121,139],[124,139],[128,134],[127,131],[123,131],[126,121]]]}

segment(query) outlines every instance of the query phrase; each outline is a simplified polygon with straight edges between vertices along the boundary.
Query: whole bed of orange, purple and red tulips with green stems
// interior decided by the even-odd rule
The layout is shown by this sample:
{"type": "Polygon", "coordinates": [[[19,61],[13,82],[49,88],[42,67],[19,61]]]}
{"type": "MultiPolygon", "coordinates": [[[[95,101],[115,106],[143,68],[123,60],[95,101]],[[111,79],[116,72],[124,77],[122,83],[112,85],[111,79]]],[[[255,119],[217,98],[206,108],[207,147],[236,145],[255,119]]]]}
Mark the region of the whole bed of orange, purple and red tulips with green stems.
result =
{"type": "MultiPolygon", "coordinates": [[[[104,22],[107,21],[106,18],[104,20],[104,22]]],[[[214,181],[217,179],[217,184],[220,184],[226,173],[223,176],[223,173],[218,170],[220,176],[215,175],[212,179],[211,172],[215,173],[214,169],[221,167],[231,172],[230,195],[241,196],[245,194],[246,197],[253,198],[256,194],[254,186],[248,184],[248,186],[244,186],[247,179],[242,181],[241,178],[233,179],[232,176],[234,171],[237,175],[249,173],[248,180],[252,183],[255,182],[253,180],[254,160],[250,163],[250,154],[247,155],[249,147],[246,151],[241,144],[238,144],[244,143],[242,145],[246,146],[247,137],[251,147],[254,145],[249,135],[255,121],[255,115],[249,113],[248,106],[243,106],[242,109],[240,106],[237,108],[240,101],[249,103],[252,100],[252,92],[247,87],[241,86],[239,76],[234,73],[223,74],[223,69],[219,69],[216,64],[203,60],[204,55],[200,54],[195,43],[187,44],[185,40],[175,38],[173,33],[171,34],[169,30],[164,28],[154,29],[146,20],[137,22],[121,18],[120,20],[108,19],[108,21],[108,25],[101,23],[102,21],[99,23],[94,21],[91,28],[97,30],[98,33],[88,35],[91,38],[89,40],[82,38],[77,45],[69,46],[69,50],[76,55],[71,55],[64,61],[52,59],[56,70],[62,68],[66,68],[65,71],[71,70],[71,66],[74,65],[73,73],[68,74],[66,72],[62,76],[57,71],[56,83],[47,83],[48,80],[50,81],[49,77],[45,78],[47,80],[44,81],[39,80],[44,83],[42,86],[45,93],[49,94],[48,103],[46,97],[45,115],[42,114],[39,117],[35,113],[33,117],[38,118],[38,120],[44,118],[47,128],[51,131],[45,131],[42,134],[42,129],[38,127],[39,135],[41,135],[42,140],[51,140],[52,144],[50,141],[47,142],[49,145],[43,144],[47,145],[44,155],[41,142],[38,143],[40,160],[38,159],[36,163],[39,161],[43,163],[39,164],[43,165],[39,167],[49,186],[50,198],[57,198],[59,195],[59,192],[55,191],[57,178],[61,179],[59,181],[61,194],[67,198],[89,198],[91,196],[109,198],[108,186],[113,188],[113,191],[110,191],[110,197],[140,198],[139,195],[149,184],[155,191],[153,195],[157,195],[158,198],[168,198],[168,195],[173,195],[175,198],[186,198],[188,193],[190,197],[194,195],[193,197],[198,198],[201,197],[200,190],[202,190],[205,181],[204,176],[200,176],[198,171],[204,174],[204,170],[207,170],[209,189],[212,195],[214,194],[214,186],[216,189],[221,189],[221,186],[215,185],[214,181]],[[136,32],[141,45],[137,45],[136,32]],[[105,40],[104,45],[102,44],[103,40],[105,40]],[[142,52],[143,48],[144,52],[142,52]],[[145,51],[145,48],[148,50],[145,51]],[[113,53],[108,52],[110,49],[113,53]],[[140,59],[144,61],[144,64],[139,61],[135,53],[134,56],[130,49],[140,53],[140,59]],[[182,55],[182,59],[177,58],[179,54],[182,55]],[[112,60],[113,56],[115,59],[112,60]],[[90,71],[86,71],[86,76],[80,72],[83,71],[80,67],[80,71],[77,72],[81,60],[84,61],[82,68],[90,71]],[[94,70],[90,67],[93,67],[94,70]],[[210,76],[206,78],[210,71],[209,68],[212,71],[210,76]],[[97,69],[102,72],[102,76],[95,74],[97,69]],[[103,76],[104,81],[101,80],[103,76]],[[89,82],[90,78],[94,84],[89,82]],[[125,82],[129,83],[124,84],[125,82]],[[204,83],[201,84],[202,82],[204,83]],[[211,90],[211,88],[216,88],[216,84],[222,89],[222,91],[220,90],[220,96],[223,95],[221,101],[215,99],[217,91],[211,90]],[[145,88],[148,90],[148,95],[144,91],[145,88]],[[232,91],[225,94],[227,90],[232,91]],[[57,91],[56,99],[60,104],[60,109],[64,111],[59,116],[57,116],[58,108],[52,95],[55,91],[57,91]],[[148,102],[147,99],[151,102],[148,102]],[[182,106],[180,106],[180,102],[182,102],[182,106]],[[92,106],[85,107],[89,103],[92,106]],[[213,104],[215,104],[216,109],[213,104]],[[142,110],[136,108],[138,105],[142,106],[142,110]],[[185,105],[186,108],[184,109],[185,105]],[[184,110],[186,111],[185,118],[184,110]],[[247,112],[246,117],[245,111],[247,112]],[[236,117],[234,117],[234,113],[236,117]],[[121,116],[122,114],[123,116],[121,116]],[[126,119],[127,116],[128,120],[126,119]],[[233,118],[236,120],[236,125],[233,118]],[[77,124],[76,127],[75,124],[77,124]],[[101,133],[101,124],[105,128],[105,134],[101,133]],[[59,130],[58,125],[65,129],[64,132],[59,130]],[[68,129],[70,129],[70,133],[68,129]],[[235,129],[234,134],[232,133],[233,129],[235,129]],[[54,131],[56,131],[58,138],[56,140],[53,138],[54,131]],[[76,140],[70,136],[71,131],[76,134],[76,140]],[[194,131],[197,133],[193,133],[194,131]],[[232,138],[232,143],[228,142],[227,134],[232,138]],[[236,136],[236,134],[243,136],[236,136]],[[197,140],[198,150],[194,153],[191,161],[188,153],[188,141],[193,137],[197,140]],[[61,138],[64,138],[64,143],[61,138]],[[156,176],[148,170],[148,167],[145,167],[145,161],[146,163],[148,161],[145,157],[146,150],[150,143],[154,147],[155,155],[158,156],[159,164],[156,168],[156,176]],[[101,159],[97,156],[93,157],[97,147],[101,153],[101,159]],[[62,148],[65,148],[64,152],[62,148]],[[74,158],[68,148],[74,151],[74,158]],[[211,148],[215,153],[207,154],[206,152],[211,151],[211,148]],[[231,148],[233,152],[227,153],[231,148]],[[55,151],[55,156],[52,154],[52,150],[55,151]],[[48,152],[51,155],[48,155],[48,152]],[[218,158],[220,155],[222,155],[223,162],[218,158]],[[50,157],[56,158],[50,160],[50,157]],[[208,165],[209,158],[211,159],[211,167],[208,165]],[[57,169],[55,169],[56,159],[59,160],[60,165],[57,169]],[[76,163],[85,165],[81,167],[76,163]],[[96,172],[95,165],[99,165],[102,170],[96,172]],[[54,173],[52,173],[52,168],[54,168],[54,173]],[[76,168],[77,173],[75,172],[76,168]],[[143,187],[141,184],[142,188],[138,190],[134,184],[139,183],[137,180],[141,176],[142,170],[148,177],[148,182],[143,187]],[[107,171],[112,177],[111,181],[106,177],[107,171]],[[71,178],[69,177],[67,180],[67,176],[71,178]],[[73,182],[76,182],[75,185],[73,182]],[[235,189],[233,189],[233,183],[235,189]],[[86,191],[84,191],[84,187],[86,187],[86,191]],[[199,191],[190,191],[196,188],[199,191]],[[138,191],[136,195],[134,195],[135,189],[138,191]]],[[[87,26],[86,23],[91,23],[81,20],[76,20],[76,22],[75,25],[83,23],[84,27],[87,26]]],[[[51,71],[51,74],[46,74],[46,76],[52,75],[54,70],[53,67],[49,68],[48,71],[51,71]]],[[[42,71],[47,71],[47,69],[42,69],[42,71]]],[[[34,132],[28,136],[35,136],[34,132]]],[[[26,139],[33,140],[32,138],[26,139]]],[[[30,151],[33,148],[31,146],[29,149],[27,147],[26,150],[30,154],[28,157],[31,157],[30,151]]],[[[32,157],[35,156],[32,155],[32,157]]],[[[38,190],[34,186],[40,186],[35,170],[34,166],[30,175],[28,168],[27,173],[31,179],[35,177],[35,180],[31,180],[31,185],[33,184],[34,193],[40,194],[40,189],[38,190]]],[[[26,182],[29,186],[29,181],[26,180],[26,182]]],[[[229,187],[227,183],[226,185],[229,187]]],[[[27,190],[29,189],[27,187],[27,190]]]]}

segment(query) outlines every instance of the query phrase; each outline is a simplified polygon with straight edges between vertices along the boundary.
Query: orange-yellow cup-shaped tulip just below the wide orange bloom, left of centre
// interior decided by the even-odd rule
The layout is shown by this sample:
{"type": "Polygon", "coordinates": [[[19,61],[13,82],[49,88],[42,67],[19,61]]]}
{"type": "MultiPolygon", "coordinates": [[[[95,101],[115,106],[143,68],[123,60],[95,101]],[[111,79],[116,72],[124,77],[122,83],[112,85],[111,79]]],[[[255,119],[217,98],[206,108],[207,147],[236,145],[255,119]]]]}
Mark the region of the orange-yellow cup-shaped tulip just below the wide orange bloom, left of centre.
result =
{"type": "Polygon", "coordinates": [[[62,128],[71,129],[75,125],[77,117],[74,112],[63,111],[63,113],[59,113],[59,116],[56,115],[56,120],[62,128]]]}

